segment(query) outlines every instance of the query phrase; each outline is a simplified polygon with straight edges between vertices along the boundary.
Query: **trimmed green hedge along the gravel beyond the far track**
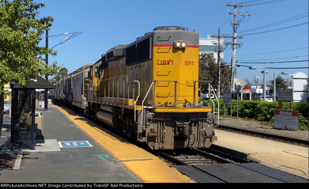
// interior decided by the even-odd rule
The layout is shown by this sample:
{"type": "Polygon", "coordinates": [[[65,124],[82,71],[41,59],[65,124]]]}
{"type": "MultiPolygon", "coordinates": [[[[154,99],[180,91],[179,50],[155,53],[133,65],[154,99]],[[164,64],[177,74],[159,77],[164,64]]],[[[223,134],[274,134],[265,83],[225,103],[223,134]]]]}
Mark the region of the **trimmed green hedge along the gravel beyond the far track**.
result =
{"type": "MultiPolygon", "coordinates": [[[[218,99],[220,103],[220,115],[224,114],[223,99],[218,99]]],[[[215,100],[215,109],[218,111],[218,102],[215,100]]],[[[204,105],[208,105],[208,100],[203,102],[204,105]]],[[[213,103],[211,102],[213,107],[213,103]]],[[[274,122],[274,110],[278,109],[278,102],[267,101],[238,101],[238,116],[242,119],[255,119],[260,121],[261,124],[273,126],[274,122]]],[[[298,129],[308,130],[308,114],[309,105],[306,102],[293,102],[293,110],[298,111],[298,129]]],[[[283,110],[290,110],[290,102],[283,102],[283,110]]],[[[231,115],[231,105],[225,105],[225,115],[231,115]]],[[[232,116],[237,115],[237,100],[232,100],[232,116]]]]}

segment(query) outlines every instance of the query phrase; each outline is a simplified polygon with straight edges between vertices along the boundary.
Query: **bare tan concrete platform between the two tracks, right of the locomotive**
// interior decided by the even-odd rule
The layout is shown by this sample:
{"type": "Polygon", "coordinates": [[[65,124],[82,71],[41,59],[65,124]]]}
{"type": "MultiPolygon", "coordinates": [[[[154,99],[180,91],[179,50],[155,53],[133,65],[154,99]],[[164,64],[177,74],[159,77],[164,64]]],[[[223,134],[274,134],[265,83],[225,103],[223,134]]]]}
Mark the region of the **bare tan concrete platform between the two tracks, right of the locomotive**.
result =
{"type": "Polygon", "coordinates": [[[211,148],[309,178],[309,148],[215,129],[211,148]]]}

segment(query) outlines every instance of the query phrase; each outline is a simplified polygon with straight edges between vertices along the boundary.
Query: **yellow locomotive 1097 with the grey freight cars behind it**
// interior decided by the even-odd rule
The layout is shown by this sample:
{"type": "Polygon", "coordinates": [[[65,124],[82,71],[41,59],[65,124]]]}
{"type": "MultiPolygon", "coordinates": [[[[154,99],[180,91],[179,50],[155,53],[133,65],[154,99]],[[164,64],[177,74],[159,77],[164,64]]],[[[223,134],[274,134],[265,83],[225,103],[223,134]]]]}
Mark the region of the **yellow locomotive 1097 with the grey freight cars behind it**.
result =
{"type": "Polygon", "coordinates": [[[208,148],[217,140],[214,127],[219,118],[210,105],[213,99],[209,98],[207,106],[199,103],[202,84],[207,85],[209,97],[213,93],[214,100],[218,98],[211,81],[198,80],[197,32],[157,27],[128,45],[108,50],[87,69],[83,84],[73,80],[73,74],[70,83],[60,83],[59,95],[61,98],[66,86],[79,92],[82,89],[83,95],[74,96],[73,92],[74,100],[68,103],[83,103],[80,108],[86,116],[124,131],[154,150],[208,148]],[[75,100],[77,97],[84,100],[75,100]]]}

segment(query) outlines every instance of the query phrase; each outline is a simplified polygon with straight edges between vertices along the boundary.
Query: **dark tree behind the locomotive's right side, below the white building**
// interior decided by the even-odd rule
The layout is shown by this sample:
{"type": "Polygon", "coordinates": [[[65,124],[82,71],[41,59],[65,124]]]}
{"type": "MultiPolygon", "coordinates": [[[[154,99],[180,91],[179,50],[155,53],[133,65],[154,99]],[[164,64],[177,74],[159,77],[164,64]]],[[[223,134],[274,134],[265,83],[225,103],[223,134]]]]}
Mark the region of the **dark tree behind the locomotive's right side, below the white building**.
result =
{"type": "MultiPolygon", "coordinates": [[[[221,62],[223,66],[220,69],[220,91],[227,88],[228,83],[231,81],[231,69],[224,66],[226,62],[221,62]]],[[[214,61],[214,55],[203,53],[199,59],[199,80],[212,81],[212,86],[217,89],[218,84],[218,64],[214,61]]],[[[202,92],[207,91],[208,85],[202,85],[202,92]]]]}

